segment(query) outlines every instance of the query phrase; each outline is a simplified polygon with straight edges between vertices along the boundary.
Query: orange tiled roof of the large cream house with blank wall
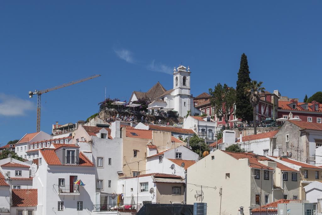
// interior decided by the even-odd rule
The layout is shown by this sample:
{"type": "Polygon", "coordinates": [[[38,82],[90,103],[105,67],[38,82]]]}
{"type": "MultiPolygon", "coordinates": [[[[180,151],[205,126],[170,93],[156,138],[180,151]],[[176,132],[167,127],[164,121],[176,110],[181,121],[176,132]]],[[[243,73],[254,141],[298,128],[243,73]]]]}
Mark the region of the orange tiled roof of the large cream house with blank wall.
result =
{"type": "Polygon", "coordinates": [[[229,154],[230,156],[232,156],[237,160],[241,158],[248,158],[249,166],[251,168],[273,170],[272,168],[258,162],[258,161],[273,161],[265,156],[255,155],[252,152],[231,152],[231,151],[223,151],[223,152],[229,154]]]}

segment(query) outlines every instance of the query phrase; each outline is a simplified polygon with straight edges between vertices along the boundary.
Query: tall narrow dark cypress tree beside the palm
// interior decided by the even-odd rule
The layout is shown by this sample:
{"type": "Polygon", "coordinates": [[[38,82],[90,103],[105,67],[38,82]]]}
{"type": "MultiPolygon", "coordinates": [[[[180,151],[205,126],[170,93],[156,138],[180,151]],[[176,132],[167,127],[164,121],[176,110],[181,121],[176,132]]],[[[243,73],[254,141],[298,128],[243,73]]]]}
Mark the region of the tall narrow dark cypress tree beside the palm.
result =
{"type": "Polygon", "coordinates": [[[253,120],[253,109],[249,98],[245,95],[244,87],[247,83],[251,82],[249,77],[249,67],[247,56],[245,53],[242,54],[241,64],[239,68],[237,86],[236,86],[236,117],[242,119],[242,121],[253,120]]]}

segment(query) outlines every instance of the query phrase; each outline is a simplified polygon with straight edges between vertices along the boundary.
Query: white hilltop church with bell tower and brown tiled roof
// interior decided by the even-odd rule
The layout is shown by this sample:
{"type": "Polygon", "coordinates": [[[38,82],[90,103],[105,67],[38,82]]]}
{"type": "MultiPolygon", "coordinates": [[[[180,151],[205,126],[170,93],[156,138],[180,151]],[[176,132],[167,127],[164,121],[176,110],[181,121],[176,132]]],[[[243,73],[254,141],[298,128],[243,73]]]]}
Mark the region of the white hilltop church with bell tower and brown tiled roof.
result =
{"type": "Polygon", "coordinates": [[[200,110],[194,107],[193,97],[190,94],[190,68],[179,65],[173,70],[173,89],[166,89],[158,82],[146,93],[133,91],[130,103],[140,98],[148,98],[151,103],[149,110],[173,111],[179,117],[184,117],[188,111],[191,115],[200,115],[200,110]]]}

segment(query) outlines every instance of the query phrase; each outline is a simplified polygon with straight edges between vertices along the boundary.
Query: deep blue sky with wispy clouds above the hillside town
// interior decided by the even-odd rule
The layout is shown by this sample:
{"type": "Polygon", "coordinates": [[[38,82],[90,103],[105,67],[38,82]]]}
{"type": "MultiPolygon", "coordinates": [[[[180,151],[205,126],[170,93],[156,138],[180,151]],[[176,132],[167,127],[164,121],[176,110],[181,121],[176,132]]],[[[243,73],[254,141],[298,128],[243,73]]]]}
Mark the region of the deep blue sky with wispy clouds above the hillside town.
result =
{"type": "Polygon", "coordinates": [[[128,100],[190,66],[191,93],[236,86],[240,56],[268,91],[321,91],[321,1],[2,1],[0,144],[36,130],[36,98],[46,89],[102,76],[42,96],[41,130],[85,120],[105,87],[128,100]],[[198,4],[197,4],[198,3],[198,4]]]}

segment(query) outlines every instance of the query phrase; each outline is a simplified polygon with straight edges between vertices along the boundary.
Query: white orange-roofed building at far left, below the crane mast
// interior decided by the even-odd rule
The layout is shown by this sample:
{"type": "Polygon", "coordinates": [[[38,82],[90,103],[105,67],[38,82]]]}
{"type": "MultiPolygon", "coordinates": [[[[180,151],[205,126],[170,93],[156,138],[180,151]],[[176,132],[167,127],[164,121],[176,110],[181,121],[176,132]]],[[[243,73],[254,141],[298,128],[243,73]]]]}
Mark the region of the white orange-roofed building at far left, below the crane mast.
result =
{"type": "Polygon", "coordinates": [[[49,139],[51,139],[51,135],[43,131],[27,133],[19,140],[19,142],[15,144],[15,152],[18,154],[18,156],[24,159],[28,159],[26,152],[30,150],[30,143],[49,140],[49,139]]]}

